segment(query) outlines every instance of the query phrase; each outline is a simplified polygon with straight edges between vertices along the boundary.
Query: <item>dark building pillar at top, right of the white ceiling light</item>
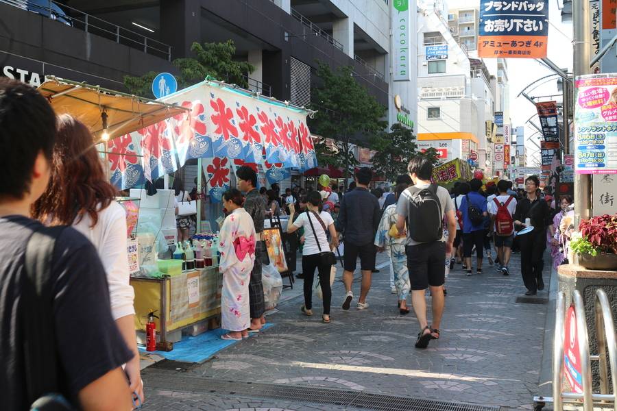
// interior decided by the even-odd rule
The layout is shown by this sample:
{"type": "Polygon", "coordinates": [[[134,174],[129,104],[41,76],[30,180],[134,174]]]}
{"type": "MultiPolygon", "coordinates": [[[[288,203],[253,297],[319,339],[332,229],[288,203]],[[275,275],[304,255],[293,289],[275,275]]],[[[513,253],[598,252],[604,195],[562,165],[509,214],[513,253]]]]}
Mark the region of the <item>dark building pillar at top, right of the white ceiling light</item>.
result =
{"type": "Polygon", "coordinates": [[[191,56],[193,42],[202,42],[199,0],[161,0],[160,40],[171,46],[171,58],[191,56]]]}

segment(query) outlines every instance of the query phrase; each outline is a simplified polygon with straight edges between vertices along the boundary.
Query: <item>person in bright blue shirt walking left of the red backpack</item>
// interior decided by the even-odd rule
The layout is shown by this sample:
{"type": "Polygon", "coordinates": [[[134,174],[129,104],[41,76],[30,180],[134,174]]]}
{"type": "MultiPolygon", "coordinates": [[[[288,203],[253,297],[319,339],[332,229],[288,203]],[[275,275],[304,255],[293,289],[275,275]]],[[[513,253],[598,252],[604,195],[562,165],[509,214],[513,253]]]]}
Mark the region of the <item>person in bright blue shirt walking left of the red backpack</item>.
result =
{"type": "Polygon", "coordinates": [[[470,206],[476,208],[483,217],[486,217],[487,207],[486,199],[478,191],[482,187],[482,182],[479,179],[472,179],[469,182],[470,192],[465,195],[461,201],[461,210],[463,214],[463,258],[465,258],[465,266],[467,266],[467,275],[471,275],[471,255],[474,245],[476,246],[476,257],[478,260],[478,266],[476,272],[482,273],[482,258],[484,249],[484,221],[472,222],[470,218],[470,206]]]}

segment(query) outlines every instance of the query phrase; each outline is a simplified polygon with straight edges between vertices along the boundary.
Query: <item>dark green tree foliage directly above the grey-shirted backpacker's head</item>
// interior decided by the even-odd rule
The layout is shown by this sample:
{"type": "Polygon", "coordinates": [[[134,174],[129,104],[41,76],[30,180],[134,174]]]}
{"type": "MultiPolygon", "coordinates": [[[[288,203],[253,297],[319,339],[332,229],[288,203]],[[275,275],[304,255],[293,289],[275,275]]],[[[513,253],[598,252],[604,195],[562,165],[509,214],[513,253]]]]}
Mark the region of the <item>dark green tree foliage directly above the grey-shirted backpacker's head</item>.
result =
{"type": "Polygon", "coordinates": [[[418,155],[428,157],[433,165],[439,164],[437,150],[431,148],[424,153],[418,150],[411,129],[396,123],[390,130],[391,132],[378,134],[371,140],[371,148],[377,151],[371,160],[376,173],[394,181],[397,175],[407,174],[409,160],[418,155]]]}

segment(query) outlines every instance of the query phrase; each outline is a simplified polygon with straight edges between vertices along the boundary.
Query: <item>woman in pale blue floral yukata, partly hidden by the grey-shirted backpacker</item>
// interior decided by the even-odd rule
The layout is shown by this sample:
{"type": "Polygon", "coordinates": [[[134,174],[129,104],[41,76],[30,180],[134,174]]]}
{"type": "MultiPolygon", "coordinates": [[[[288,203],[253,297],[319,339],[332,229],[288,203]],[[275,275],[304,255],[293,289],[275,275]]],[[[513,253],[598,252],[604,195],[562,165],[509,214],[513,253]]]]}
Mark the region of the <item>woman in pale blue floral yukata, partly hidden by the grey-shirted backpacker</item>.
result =
{"type": "MultiPolygon", "coordinates": [[[[407,184],[398,184],[394,189],[396,201],[402,192],[407,188],[407,184]]],[[[405,243],[407,236],[398,234],[396,229],[396,203],[387,206],[381,216],[379,228],[375,235],[375,245],[380,252],[387,251],[392,260],[394,269],[394,286],[398,294],[398,309],[400,314],[409,314],[407,308],[407,296],[409,295],[409,273],[407,271],[407,255],[405,254],[405,243]],[[394,228],[393,228],[394,227],[394,228]]]]}

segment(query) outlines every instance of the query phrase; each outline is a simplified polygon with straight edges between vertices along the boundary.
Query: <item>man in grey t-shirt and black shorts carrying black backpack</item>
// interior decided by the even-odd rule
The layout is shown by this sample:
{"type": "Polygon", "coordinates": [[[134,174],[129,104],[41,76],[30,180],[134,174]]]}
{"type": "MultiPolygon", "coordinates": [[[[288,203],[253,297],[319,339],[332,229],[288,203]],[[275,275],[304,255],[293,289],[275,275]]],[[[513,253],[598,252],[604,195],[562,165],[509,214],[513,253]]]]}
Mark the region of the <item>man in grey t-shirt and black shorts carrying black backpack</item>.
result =
{"type": "Polygon", "coordinates": [[[433,164],[428,158],[412,158],[407,167],[413,186],[402,192],[396,204],[396,228],[407,232],[407,268],[411,283],[411,303],[420,323],[416,348],[428,347],[431,339],[440,336],[441,315],[444,314],[444,282],[446,254],[452,253],[457,232],[454,202],[446,188],[431,183],[433,164]],[[444,236],[444,216],[448,225],[448,240],[444,236]],[[407,227],[406,227],[407,225],[407,227]],[[426,319],[426,288],[432,295],[433,323],[426,319]]]}

